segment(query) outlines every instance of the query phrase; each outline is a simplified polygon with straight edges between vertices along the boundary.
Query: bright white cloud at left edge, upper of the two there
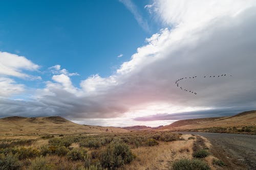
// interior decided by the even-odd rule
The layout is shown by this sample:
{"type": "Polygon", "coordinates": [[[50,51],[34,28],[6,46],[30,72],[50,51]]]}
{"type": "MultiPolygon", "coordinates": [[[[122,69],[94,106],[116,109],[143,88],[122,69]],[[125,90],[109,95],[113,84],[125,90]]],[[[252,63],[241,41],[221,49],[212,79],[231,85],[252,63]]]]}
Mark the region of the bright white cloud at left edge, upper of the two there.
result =
{"type": "Polygon", "coordinates": [[[23,70],[35,71],[38,68],[38,65],[23,56],[0,52],[0,75],[2,76],[37,79],[37,77],[25,74],[23,70]]]}

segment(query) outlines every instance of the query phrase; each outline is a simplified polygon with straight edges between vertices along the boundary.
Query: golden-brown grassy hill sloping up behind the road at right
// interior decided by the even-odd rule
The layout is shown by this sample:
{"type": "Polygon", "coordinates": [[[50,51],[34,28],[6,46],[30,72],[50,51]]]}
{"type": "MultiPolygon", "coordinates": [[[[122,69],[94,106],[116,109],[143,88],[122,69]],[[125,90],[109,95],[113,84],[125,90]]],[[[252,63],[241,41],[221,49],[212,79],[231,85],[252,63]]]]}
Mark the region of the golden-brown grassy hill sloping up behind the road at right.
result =
{"type": "Polygon", "coordinates": [[[210,127],[256,126],[256,111],[246,111],[234,116],[178,120],[157,130],[182,130],[210,127]]]}

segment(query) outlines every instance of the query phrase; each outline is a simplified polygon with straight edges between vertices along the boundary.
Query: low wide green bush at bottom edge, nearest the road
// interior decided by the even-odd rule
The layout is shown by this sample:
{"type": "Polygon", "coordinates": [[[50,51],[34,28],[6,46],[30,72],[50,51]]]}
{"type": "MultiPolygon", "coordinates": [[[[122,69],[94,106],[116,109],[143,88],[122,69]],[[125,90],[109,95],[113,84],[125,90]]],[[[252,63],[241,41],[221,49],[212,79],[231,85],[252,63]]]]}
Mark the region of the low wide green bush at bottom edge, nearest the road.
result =
{"type": "Polygon", "coordinates": [[[209,165],[197,159],[180,159],[173,163],[173,170],[210,170],[209,165]]]}

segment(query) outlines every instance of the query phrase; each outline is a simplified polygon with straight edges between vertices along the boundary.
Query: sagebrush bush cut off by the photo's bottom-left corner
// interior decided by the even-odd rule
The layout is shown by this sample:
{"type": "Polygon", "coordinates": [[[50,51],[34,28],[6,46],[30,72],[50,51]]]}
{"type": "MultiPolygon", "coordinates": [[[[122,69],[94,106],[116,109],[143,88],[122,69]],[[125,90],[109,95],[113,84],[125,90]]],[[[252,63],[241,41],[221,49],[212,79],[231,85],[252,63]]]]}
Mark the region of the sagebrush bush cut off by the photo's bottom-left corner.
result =
{"type": "Polygon", "coordinates": [[[0,170],[18,170],[22,168],[22,163],[12,154],[0,155],[0,170]]]}

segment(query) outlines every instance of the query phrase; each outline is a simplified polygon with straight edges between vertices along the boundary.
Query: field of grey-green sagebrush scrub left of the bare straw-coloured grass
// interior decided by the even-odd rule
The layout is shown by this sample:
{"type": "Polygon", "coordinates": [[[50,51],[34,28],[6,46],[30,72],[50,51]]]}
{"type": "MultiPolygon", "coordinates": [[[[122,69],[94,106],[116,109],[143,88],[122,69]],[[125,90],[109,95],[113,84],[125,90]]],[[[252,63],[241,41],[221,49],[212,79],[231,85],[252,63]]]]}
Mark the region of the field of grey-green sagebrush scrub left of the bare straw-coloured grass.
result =
{"type": "MultiPolygon", "coordinates": [[[[168,131],[47,135],[32,140],[0,139],[0,163],[2,166],[3,162],[9,162],[3,166],[8,166],[9,169],[129,169],[132,162],[140,162],[148,155],[149,148],[153,149],[150,152],[155,155],[159,149],[174,141],[182,141],[184,144],[188,142],[190,146],[193,144],[193,141],[182,138],[181,134],[168,131]],[[10,161],[3,161],[7,159],[10,161]]],[[[189,145],[177,148],[176,153],[191,155],[189,145]]],[[[159,161],[164,162],[163,159],[159,161]]]]}

